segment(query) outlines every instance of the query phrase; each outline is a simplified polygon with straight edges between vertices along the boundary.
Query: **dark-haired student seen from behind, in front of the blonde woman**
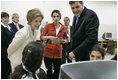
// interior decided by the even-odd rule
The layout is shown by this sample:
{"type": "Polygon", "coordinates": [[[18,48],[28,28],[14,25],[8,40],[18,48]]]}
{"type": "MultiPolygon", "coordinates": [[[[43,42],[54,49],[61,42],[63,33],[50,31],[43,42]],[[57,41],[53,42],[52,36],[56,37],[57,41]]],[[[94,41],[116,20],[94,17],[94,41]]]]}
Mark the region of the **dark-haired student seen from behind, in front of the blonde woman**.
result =
{"type": "Polygon", "coordinates": [[[45,79],[46,73],[40,68],[44,46],[42,42],[30,42],[22,53],[22,64],[9,76],[11,79],[45,79]]]}

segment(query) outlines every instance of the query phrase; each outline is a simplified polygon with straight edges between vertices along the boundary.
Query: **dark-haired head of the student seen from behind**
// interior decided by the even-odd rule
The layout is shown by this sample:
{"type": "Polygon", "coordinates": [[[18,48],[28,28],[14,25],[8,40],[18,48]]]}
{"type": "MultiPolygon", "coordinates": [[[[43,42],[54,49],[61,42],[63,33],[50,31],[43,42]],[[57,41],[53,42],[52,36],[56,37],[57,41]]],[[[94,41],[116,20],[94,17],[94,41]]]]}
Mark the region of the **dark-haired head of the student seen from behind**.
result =
{"type": "Polygon", "coordinates": [[[40,68],[44,46],[42,42],[30,42],[23,51],[23,64],[32,72],[40,68]]]}

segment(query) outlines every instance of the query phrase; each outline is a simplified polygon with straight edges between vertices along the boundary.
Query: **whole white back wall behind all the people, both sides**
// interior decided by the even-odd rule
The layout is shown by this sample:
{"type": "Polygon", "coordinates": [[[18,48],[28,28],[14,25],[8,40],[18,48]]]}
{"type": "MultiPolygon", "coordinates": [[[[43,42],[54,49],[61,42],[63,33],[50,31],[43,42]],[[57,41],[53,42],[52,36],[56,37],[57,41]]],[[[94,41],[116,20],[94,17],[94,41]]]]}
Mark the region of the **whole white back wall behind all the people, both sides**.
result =
{"type": "MultiPolygon", "coordinates": [[[[117,39],[117,1],[85,1],[84,5],[94,10],[99,17],[99,39],[104,32],[112,32],[113,39],[117,39]]],[[[42,11],[44,14],[42,23],[52,22],[52,10],[59,9],[62,14],[61,22],[63,23],[63,18],[68,16],[72,24],[73,13],[68,1],[1,1],[1,11],[8,12],[10,16],[17,12],[20,15],[20,23],[23,25],[27,24],[26,14],[32,8],[39,8],[42,11]]]]}

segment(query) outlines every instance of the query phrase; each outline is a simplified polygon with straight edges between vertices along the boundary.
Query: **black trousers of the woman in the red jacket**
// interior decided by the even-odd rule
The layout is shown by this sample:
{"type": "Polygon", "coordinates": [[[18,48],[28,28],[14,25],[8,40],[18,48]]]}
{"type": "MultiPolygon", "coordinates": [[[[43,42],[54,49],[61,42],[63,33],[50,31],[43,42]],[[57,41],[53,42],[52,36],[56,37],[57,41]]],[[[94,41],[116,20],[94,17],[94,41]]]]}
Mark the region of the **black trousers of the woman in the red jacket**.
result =
{"type": "Polygon", "coordinates": [[[61,58],[60,59],[52,59],[44,57],[44,63],[47,69],[47,78],[48,79],[58,79],[59,71],[61,66],[61,58]]]}

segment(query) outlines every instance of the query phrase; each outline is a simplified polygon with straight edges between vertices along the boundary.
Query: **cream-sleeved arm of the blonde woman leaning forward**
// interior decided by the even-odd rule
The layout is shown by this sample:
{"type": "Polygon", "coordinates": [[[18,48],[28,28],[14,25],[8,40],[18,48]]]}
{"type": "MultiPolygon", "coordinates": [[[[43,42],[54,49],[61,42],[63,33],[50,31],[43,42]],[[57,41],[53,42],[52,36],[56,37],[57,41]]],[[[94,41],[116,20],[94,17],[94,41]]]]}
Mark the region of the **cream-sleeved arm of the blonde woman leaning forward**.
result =
{"type": "Polygon", "coordinates": [[[9,45],[7,51],[8,51],[8,58],[17,50],[21,45],[24,43],[27,37],[27,32],[23,30],[19,30],[15,37],[13,38],[13,41],[9,45]]]}

